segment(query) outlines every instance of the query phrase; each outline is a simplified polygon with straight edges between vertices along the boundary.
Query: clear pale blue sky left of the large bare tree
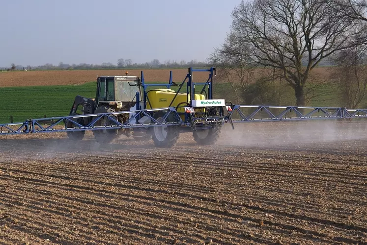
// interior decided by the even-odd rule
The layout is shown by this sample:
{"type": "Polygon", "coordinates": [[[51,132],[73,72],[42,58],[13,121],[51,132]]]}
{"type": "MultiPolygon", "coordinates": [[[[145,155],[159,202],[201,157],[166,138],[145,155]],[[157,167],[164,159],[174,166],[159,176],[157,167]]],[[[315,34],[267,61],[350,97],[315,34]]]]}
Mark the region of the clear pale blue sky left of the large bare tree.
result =
{"type": "Polygon", "coordinates": [[[205,61],[241,0],[1,2],[0,67],[132,59],[205,61]]]}

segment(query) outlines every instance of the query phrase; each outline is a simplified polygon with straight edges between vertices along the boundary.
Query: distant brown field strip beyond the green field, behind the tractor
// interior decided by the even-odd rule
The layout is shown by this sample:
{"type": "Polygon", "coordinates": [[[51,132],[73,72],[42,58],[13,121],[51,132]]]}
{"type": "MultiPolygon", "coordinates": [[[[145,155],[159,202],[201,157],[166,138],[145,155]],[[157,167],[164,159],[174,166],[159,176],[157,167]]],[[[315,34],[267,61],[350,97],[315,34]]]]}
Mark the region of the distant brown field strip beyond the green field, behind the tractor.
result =
{"type": "MultiPolygon", "coordinates": [[[[144,69],[143,69],[144,70],[144,69]]],[[[129,75],[139,76],[141,70],[127,70],[129,75]]],[[[168,82],[169,71],[164,69],[144,70],[148,82],[168,82]]],[[[125,75],[126,70],[75,70],[75,71],[17,71],[0,73],[0,87],[37,86],[37,85],[69,85],[95,81],[97,75],[125,75]]],[[[182,82],[187,69],[173,69],[173,81],[182,82]]],[[[208,73],[195,73],[198,82],[206,82],[208,73]]]]}

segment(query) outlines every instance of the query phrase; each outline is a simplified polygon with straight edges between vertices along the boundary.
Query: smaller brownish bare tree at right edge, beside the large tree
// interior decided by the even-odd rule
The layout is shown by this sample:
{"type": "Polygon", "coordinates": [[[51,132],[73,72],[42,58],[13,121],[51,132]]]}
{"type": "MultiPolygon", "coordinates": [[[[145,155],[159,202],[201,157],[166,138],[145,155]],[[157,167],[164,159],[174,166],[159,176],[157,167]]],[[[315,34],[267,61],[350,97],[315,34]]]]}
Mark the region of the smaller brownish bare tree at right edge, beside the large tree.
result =
{"type": "Polygon", "coordinates": [[[366,96],[366,48],[342,50],[335,56],[338,67],[332,78],[341,89],[340,98],[349,108],[356,108],[366,96]]]}

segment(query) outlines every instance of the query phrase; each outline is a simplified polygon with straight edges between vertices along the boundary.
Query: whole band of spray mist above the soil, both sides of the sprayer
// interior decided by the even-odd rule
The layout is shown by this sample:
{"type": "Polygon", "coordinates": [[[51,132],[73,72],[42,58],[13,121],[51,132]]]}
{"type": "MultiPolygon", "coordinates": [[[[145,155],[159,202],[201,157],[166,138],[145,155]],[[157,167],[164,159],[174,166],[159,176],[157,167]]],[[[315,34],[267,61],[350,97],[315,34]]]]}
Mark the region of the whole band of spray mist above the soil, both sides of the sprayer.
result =
{"type": "MultiPolygon", "coordinates": [[[[367,122],[365,120],[329,120],[298,122],[252,122],[234,123],[232,130],[229,123],[222,127],[217,146],[233,146],[264,149],[317,149],[327,148],[349,141],[348,150],[353,149],[350,141],[366,142],[367,122]]],[[[353,142],[352,142],[353,143],[353,142]]],[[[362,143],[364,144],[364,143],[362,143]]],[[[197,147],[191,133],[180,136],[179,146],[197,147]]],[[[111,144],[100,144],[95,141],[92,132],[85,133],[80,142],[71,141],[65,133],[33,134],[27,136],[5,136],[0,139],[0,161],[75,161],[83,157],[111,156],[112,152],[140,149],[155,150],[150,141],[135,141],[119,137],[111,144]]],[[[159,150],[159,149],[157,149],[159,150]]],[[[173,150],[173,149],[172,149],[173,150]]]]}

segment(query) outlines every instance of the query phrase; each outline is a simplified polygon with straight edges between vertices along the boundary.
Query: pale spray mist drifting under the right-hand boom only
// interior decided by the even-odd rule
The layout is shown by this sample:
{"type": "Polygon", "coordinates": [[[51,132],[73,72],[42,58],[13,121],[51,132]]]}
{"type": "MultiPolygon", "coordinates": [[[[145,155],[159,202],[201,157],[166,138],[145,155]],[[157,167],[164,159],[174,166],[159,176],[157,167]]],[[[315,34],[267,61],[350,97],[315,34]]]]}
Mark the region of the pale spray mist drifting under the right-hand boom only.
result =
{"type": "Polygon", "coordinates": [[[275,148],[367,140],[366,121],[247,122],[234,127],[223,127],[219,145],[275,148]]]}

